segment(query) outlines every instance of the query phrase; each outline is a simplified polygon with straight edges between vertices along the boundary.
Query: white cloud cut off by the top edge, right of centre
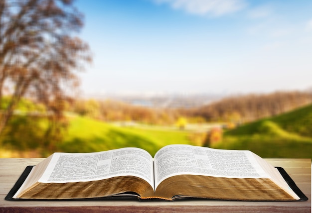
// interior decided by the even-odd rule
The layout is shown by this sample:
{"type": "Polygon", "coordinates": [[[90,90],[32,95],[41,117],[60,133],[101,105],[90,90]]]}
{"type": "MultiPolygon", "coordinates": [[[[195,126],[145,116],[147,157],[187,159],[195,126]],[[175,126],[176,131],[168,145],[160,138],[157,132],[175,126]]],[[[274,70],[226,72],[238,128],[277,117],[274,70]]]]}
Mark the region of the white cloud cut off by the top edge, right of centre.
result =
{"type": "Polygon", "coordinates": [[[245,0],[154,0],[191,14],[221,16],[243,9],[245,0]]]}

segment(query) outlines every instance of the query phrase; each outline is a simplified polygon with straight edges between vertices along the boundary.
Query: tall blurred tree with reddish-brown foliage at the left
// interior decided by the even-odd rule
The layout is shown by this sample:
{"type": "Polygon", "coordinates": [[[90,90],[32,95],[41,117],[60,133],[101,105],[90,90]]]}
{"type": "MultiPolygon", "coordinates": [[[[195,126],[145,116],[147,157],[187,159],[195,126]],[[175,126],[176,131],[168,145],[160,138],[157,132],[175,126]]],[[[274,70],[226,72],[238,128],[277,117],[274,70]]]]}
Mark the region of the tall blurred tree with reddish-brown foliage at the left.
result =
{"type": "Polygon", "coordinates": [[[77,37],[83,15],[73,0],[0,0],[0,133],[23,97],[44,104],[49,131],[62,118],[77,71],[91,62],[87,43],[77,37]]]}

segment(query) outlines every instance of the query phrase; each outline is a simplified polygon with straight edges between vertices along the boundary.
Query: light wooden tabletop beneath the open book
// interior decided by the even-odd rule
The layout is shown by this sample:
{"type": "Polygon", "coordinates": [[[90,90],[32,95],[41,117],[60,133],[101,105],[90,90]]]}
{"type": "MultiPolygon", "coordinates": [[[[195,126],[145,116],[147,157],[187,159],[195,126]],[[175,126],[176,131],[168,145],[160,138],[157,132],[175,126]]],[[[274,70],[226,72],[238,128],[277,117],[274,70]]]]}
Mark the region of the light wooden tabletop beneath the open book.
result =
{"type": "Polygon", "coordinates": [[[273,166],[283,167],[309,198],[303,202],[240,202],[213,200],[186,201],[5,201],[19,175],[27,165],[36,165],[42,158],[0,159],[0,213],[6,212],[261,212],[311,213],[311,159],[266,159],[273,166]]]}

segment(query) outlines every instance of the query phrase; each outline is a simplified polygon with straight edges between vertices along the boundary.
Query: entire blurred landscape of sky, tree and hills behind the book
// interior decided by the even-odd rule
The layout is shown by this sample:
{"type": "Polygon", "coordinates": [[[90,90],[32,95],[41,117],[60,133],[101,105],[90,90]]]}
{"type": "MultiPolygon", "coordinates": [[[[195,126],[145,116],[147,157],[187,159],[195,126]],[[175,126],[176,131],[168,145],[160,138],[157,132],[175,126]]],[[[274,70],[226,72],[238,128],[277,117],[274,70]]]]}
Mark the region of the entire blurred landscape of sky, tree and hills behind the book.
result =
{"type": "Polygon", "coordinates": [[[311,0],[1,0],[0,157],[168,144],[312,158],[311,0]]]}

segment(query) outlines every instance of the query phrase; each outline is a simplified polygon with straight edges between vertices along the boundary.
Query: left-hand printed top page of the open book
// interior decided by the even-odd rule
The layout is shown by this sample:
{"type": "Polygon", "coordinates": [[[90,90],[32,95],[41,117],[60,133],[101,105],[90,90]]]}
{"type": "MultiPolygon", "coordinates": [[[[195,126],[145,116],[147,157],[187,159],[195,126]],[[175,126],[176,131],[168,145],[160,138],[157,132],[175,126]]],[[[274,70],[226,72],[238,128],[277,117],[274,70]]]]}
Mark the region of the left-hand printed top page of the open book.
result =
{"type": "Polygon", "coordinates": [[[85,182],[117,176],[136,176],[154,189],[153,158],[139,148],[95,153],[54,153],[41,183],[85,182]]]}

